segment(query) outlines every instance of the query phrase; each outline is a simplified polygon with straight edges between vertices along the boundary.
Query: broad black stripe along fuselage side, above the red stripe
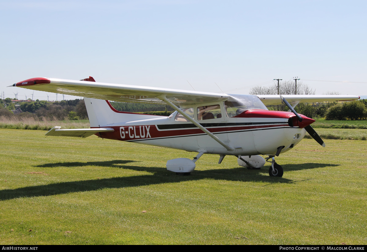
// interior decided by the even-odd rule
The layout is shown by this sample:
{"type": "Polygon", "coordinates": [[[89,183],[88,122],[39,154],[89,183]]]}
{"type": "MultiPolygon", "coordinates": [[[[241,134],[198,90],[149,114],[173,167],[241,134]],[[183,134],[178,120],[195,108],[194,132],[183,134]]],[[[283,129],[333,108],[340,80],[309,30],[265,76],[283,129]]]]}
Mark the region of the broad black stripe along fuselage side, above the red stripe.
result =
{"type": "MultiPolygon", "coordinates": [[[[262,124],[284,124],[288,122],[225,122],[225,123],[200,123],[203,127],[225,127],[225,126],[248,126],[248,125],[262,125],[262,124]]],[[[180,123],[180,124],[163,124],[157,125],[159,130],[169,130],[169,129],[187,129],[187,128],[197,128],[193,123],[180,123]]]]}

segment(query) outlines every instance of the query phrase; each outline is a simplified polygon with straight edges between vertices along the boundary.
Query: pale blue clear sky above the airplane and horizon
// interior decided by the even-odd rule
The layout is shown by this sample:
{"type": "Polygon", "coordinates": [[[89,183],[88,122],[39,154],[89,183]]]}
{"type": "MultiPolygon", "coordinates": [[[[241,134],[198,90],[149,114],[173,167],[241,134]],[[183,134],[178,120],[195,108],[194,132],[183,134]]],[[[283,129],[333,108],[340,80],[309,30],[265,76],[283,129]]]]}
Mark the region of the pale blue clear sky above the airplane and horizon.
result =
{"type": "Polygon", "coordinates": [[[353,0],[0,1],[0,91],[24,99],[33,91],[6,86],[93,76],[221,92],[217,83],[247,94],[244,87],[298,76],[316,94],[367,95],[366,7],[353,0]]]}

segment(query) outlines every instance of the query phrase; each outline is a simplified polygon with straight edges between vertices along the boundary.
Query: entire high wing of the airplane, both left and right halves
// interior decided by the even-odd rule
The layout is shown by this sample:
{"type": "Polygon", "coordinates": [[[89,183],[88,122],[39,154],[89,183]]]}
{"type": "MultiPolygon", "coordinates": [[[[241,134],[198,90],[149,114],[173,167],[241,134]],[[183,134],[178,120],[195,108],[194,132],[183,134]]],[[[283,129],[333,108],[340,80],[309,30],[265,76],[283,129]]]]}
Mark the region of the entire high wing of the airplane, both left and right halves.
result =
{"type": "MultiPolygon", "coordinates": [[[[12,86],[100,100],[150,104],[166,104],[167,102],[157,98],[162,96],[176,105],[226,101],[231,97],[237,100],[243,96],[241,94],[219,94],[54,78],[32,78],[17,82],[12,86]]],[[[258,97],[265,105],[277,105],[283,102],[279,95],[258,95],[258,97]]],[[[359,96],[339,95],[284,95],[283,97],[294,106],[303,102],[351,101],[360,98],[359,96]]]]}

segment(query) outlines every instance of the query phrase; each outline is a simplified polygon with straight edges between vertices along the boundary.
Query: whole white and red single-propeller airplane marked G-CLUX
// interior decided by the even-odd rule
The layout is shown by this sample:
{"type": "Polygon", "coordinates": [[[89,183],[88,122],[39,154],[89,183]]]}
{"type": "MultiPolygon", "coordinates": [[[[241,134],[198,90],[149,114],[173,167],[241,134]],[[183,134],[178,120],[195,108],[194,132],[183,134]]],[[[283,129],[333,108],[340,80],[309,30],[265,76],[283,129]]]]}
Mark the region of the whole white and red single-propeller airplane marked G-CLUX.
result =
{"type": "Polygon", "coordinates": [[[32,78],[12,86],[52,93],[83,96],[90,129],[53,127],[46,136],[88,137],[174,148],[198,154],[193,160],[167,161],[167,170],[188,175],[203,154],[236,156],[240,166],[260,169],[270,162],[270,176],[283,176],[275,156],[291,150],[308,132],[320,145],[324,141],[310,126],[315,120],[295,112],[302,102],[351,101],[359,96],[245,95],[178,89],[161,89],[83,80],[32,78]],[[120,112],[109,101],[168,104],[175,112],[156,116],[120,112]],[[269,111],[265,105],[285,103],[288,112],[269,111]],[[266,155],[264,159],[262,156],[266,155]],[[269,160],[270,159],[270,160],[269,160]]]}

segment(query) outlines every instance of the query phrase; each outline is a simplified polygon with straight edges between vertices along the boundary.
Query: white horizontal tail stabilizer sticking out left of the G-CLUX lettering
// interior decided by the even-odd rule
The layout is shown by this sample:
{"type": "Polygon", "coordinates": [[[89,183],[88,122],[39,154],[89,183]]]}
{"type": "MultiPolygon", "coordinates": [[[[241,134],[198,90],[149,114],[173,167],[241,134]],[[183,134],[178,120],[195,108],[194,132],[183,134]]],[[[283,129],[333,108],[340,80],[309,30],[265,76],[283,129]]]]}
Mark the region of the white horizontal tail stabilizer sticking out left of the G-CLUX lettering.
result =
{"type": "Polygon", "coordinates": [[[81,137],[86,138],[94,135],[98,132],[113,132],[112,128],[96,128],[96,129],[65,129],[61,130],[61,127],[55,126],[50,129],[45,136],[57,136],[57,137],[81,137]]]}

